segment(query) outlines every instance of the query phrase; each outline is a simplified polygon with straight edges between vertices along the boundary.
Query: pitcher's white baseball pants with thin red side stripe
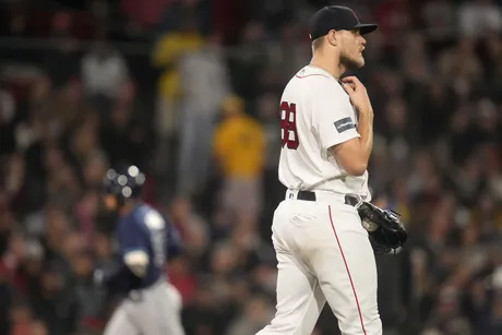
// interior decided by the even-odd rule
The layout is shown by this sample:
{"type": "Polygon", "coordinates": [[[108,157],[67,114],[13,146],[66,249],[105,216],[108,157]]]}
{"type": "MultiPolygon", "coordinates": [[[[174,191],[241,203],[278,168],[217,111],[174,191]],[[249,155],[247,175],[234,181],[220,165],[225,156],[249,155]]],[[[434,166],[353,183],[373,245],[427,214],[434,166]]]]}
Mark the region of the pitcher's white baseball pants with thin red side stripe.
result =
{"type": "Polygon", "coordinates": [[[342,195],[288,190],[276,208],[276,314],[256,335],[310,335],[327,301],[343,335],[381,335],[376,264],[357,210],[342,195]]]}

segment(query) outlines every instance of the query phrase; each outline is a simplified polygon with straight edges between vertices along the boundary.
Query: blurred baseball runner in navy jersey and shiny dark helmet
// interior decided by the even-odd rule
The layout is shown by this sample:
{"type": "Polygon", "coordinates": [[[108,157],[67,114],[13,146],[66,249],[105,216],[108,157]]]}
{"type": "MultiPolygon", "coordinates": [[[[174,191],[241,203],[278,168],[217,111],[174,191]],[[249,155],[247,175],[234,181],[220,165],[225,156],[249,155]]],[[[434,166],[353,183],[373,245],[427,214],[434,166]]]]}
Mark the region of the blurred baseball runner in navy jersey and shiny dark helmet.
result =
{"type": "Polygon", "coordinates": [[[168,254],[180,252],[175,228],[138,198],[145,177],[135,166],[107,171],[104,204],[116,213],[120,266],[96,270],[94,278],[109,294],[122,294],[105,335],[183,335],[181,298],[165,278],[168,254]]]}

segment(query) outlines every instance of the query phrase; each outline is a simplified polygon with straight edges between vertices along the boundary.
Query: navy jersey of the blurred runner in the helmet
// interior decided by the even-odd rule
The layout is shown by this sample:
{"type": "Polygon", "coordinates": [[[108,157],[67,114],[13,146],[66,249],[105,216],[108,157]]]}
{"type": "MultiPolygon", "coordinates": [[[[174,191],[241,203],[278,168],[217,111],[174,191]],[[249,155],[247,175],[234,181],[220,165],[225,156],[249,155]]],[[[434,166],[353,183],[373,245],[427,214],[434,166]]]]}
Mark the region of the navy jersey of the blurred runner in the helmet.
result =
{"type": "Polygon", "coordinates": [[[156,283],[165,276],[165,263],[169,253],[180,251],[180,238],[175,227],[151,206],[140,203],[117,225],[117,240],[120,248],[121,287],[125,290],[140,289],[156,283]],[[128,252],[143,251],[148,256],[145,275],[138,277],[124,264],[128,252]]]}

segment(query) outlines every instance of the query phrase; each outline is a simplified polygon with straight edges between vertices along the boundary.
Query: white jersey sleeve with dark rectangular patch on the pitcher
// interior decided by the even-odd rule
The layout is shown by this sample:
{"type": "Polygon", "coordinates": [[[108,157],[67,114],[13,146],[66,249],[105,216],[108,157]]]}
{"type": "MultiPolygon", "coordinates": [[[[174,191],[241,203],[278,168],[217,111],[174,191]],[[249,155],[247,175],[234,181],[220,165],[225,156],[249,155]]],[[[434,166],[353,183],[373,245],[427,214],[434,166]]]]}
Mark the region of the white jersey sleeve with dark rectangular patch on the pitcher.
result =
{"type": "Polygon", "coordinates": [[[354,120],[354,109],[345,92],[334,85],[324,85],[316,89],[313,103],[313,127],[323,151],[360,137],[354,120]]]}

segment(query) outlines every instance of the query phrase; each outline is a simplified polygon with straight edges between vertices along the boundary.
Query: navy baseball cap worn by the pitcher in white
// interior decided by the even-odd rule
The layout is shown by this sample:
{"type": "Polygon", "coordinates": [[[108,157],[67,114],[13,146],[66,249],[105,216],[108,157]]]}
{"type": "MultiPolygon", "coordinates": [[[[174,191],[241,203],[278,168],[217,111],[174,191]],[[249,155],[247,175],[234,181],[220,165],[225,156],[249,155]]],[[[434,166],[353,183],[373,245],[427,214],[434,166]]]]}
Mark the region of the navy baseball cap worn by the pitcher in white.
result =
{"type": "Polygon", "coordinates": [[[376,31],[378,25],[373,23],[360,23],[356,13],[348,7],[326,5],[318,11],[310,19],[309,36],[314,40],[326,35],[330,31],[355,31],[359,29],[361,35],[376,31]]]}

